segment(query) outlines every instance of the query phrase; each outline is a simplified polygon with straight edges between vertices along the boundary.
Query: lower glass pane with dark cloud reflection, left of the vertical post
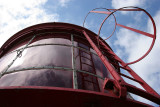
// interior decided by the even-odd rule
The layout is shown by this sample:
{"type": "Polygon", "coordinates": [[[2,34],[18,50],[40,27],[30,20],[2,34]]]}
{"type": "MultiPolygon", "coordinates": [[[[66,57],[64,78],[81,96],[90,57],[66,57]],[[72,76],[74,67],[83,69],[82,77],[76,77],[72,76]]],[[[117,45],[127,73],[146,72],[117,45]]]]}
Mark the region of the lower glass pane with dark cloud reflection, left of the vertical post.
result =
{"type": "Polygon", "coordinates": [[[6,74],[0,86],[54,86],[72,88],[72,71],[51,69],[19,71],[6,74]]]}

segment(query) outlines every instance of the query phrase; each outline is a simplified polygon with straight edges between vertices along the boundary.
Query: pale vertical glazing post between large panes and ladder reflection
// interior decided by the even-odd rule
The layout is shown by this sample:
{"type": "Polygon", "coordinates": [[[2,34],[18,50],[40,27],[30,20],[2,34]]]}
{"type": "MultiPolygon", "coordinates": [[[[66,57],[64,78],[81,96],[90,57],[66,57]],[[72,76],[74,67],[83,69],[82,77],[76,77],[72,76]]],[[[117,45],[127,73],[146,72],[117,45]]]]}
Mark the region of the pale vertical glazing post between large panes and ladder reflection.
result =
{"type": "Polygon", "coordinates": [[[78,89],[78,84],[77,84],[77,72],[76,72],[75,57],[74,57],[74,38],[73,38],[73,34],[71,34],[71,41],[72,41],[73,88],[74,88],[74,89],[78,89]]]}

